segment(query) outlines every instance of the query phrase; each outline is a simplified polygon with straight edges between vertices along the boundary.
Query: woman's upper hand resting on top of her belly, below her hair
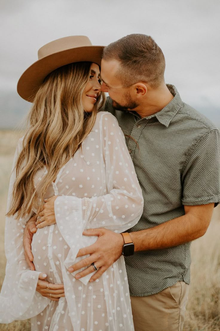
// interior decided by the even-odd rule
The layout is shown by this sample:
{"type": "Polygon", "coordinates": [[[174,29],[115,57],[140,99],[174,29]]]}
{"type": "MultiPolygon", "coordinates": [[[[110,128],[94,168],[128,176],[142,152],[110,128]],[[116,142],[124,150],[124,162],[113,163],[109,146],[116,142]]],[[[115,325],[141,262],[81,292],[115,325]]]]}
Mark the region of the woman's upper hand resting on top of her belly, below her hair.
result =
{"type": "Polygon", "coordinates": [[[45,199],[45,204],[43,211],[37,214],[37,228],[41,229],[47,225],[52,225],[56,223],[55,213],[54,213],[54,201],[57,196],[53,196],[49,199],[45,199]]]}

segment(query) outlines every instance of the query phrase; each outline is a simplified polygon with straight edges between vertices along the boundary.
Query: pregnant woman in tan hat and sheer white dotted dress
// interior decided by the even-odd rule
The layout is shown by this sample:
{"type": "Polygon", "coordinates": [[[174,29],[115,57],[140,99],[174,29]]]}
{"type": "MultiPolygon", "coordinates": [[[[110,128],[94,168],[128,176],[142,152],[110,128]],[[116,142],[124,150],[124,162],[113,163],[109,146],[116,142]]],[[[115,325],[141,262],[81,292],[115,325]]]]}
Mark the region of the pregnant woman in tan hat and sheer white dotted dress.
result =
{"type": "Polygon", "coordinates": [[[93,283],[88,282],[91,275],[76,279],[68,271],[79,261],[79,249],[97,239],[83,236],[84,229],[123,232],[138,222],[143,209],[117,120],[97,113],[104,102],[101,53],[102,47],[85,36],[52,41],[18,82],[18,93],[33,106],[10,180],[1,323],[31,318],[32,331],[134,330],[122,256],[93,283]],[[41,212],[44,199],[54,196],[56,223],[34,234],[36,270],[31,271],[24,259],[23,229],[41,212]],[[52,291],[51,299],[36,292],[42,272],[48,284],[64,284],[65,297],[55,301],[52,291]]]}

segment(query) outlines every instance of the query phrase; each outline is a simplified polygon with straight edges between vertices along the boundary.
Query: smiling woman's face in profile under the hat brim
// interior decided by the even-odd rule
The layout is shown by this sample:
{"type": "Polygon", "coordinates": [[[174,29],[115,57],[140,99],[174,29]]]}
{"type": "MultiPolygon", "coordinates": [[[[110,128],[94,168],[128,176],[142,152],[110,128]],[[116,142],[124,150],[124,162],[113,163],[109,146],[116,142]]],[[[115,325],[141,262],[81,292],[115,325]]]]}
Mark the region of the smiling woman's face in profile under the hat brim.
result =
{"type": "Polygon", "coordinates": [[[99,66],[96,63],[92,63],[89,80],[82,96],[82,104],[85,112],[91,113],[100,93],[101,79],[99,66]]]}

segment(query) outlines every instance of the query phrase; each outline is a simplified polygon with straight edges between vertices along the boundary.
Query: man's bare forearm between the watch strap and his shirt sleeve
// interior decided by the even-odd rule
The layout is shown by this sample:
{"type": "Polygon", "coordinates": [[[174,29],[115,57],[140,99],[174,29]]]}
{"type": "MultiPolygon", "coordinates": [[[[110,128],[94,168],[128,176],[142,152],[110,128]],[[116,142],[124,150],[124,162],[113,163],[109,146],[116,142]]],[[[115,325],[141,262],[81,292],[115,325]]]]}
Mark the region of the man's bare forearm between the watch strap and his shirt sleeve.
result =
{"type": "Polygon", "coordinates": [[[200,208],[200,214],[186,213],[155,227],[131,232],[135,251],[148,251],[178,246],[204,235],[209,225],[213,204],[200,208]]]}

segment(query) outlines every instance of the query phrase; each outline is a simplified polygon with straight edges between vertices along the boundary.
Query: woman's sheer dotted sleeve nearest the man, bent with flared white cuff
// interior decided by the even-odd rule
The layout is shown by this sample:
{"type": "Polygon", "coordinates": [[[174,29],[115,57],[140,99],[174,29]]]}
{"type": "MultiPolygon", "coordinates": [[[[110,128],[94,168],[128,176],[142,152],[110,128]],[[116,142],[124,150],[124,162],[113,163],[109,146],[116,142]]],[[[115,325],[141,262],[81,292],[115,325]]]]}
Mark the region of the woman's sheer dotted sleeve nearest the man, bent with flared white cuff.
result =
{"type": "Polygon", "coordinates": [[[57,226],[71,249],[65,265],[73,264],[79,249],[91,244],[89,237],[82,236],[85,228],[123,232],[138,222],[143,211],[141,187],[116,118],[103,113],[99,125],[108,194],[82,199],[59,196],[54,203],[57,226]]]}

